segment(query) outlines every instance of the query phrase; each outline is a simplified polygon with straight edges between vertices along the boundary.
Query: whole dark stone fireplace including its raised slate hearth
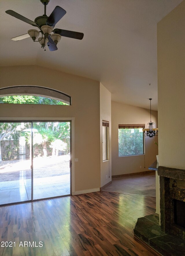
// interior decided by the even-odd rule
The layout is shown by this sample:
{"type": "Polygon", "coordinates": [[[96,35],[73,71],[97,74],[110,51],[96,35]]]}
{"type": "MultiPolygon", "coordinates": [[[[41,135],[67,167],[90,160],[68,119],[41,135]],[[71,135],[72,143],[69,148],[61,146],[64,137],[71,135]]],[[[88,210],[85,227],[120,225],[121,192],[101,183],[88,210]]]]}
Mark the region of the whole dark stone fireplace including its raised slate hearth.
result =
{"type": "Polygon", "coordinates": [[[138,218],[134,236],[161,255],[185,256],[185,170],[158,167],[159,214],[138,218]]]}

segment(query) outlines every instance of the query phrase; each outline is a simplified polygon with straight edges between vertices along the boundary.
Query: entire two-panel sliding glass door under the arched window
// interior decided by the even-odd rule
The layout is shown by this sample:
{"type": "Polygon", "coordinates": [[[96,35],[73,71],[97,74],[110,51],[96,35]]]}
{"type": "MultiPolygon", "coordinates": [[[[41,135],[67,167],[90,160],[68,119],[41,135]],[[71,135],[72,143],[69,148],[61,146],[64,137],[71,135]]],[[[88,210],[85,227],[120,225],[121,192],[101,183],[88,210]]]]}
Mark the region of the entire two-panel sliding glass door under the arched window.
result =
{"type": "Polygon", "coordinates": [[[71,194],[71,122],[0,123],[0,205],[71,194]]]}

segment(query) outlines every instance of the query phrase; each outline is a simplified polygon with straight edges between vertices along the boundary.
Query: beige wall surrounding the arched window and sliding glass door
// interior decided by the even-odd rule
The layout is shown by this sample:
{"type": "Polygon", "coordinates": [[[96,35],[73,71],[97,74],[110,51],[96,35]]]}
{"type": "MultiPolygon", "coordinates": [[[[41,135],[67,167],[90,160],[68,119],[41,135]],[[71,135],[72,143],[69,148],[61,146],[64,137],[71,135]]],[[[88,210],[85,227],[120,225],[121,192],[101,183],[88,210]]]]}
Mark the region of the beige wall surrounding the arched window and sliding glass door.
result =
{"type": "Polygon", "coordinates": [[[0,117],[74,117],[75,191],[100,187],[100,84],[38,66],[2,67],[0,87],[39,85],[71,95],[72,105],[1,104],[0,117]]]}

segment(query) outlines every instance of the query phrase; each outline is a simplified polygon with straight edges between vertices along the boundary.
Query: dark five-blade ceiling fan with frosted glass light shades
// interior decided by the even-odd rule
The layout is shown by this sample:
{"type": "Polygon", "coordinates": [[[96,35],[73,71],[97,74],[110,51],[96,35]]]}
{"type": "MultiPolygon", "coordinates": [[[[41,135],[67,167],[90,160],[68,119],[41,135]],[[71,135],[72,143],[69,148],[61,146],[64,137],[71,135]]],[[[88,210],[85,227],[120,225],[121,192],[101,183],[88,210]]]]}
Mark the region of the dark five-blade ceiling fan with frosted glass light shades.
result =
{"type": "Polygon", "coordinates": [[[36,29],[30,29],[28,30],[27,34],[13,37],[11,38],[12,40],[19,41],[19,40],[31,37],[34,42],[39,42],[43,49],[47,45],[50,51],[56,51],[58,49],[57,44],[60,41],[61,36],[82,40],[82,38],[84,37],[83,33],[59,29],[59,28],[53,29],[56,23],[66,14],[66,11],[62,7],[56,6],[48,17],[46,15],[46,6],[49,3],[49,0],[40,0],[40,1],[44,5],[44,15],[36,17],[34,22],[12,10],[5,11],[7,14],[17,19],[20,19],[32,26],[38,27],[40,30],[38,31],[36,29]],[[40,33],[41,33],[41,37],[38,38],[40,33]],[[36,38],[38,38],[38,41],[36,41],[36,38]]]}

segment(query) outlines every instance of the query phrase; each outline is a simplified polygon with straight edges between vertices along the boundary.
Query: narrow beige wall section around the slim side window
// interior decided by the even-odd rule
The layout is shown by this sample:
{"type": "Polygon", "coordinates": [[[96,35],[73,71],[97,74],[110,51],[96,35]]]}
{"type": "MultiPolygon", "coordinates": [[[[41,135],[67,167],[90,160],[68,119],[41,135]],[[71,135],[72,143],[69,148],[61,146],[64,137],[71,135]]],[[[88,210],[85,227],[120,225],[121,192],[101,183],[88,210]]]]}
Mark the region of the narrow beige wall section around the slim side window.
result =
{"type": "Polygon", "coordinates": [[[100,83],[100,162],[101,187],[112,180],[111,164],[111,93],[100,83]],[[102,121],[109,122],[109,160],[103,161],[102,121]],[[106,178],[107,177],[107,178],[106,178]]]}

